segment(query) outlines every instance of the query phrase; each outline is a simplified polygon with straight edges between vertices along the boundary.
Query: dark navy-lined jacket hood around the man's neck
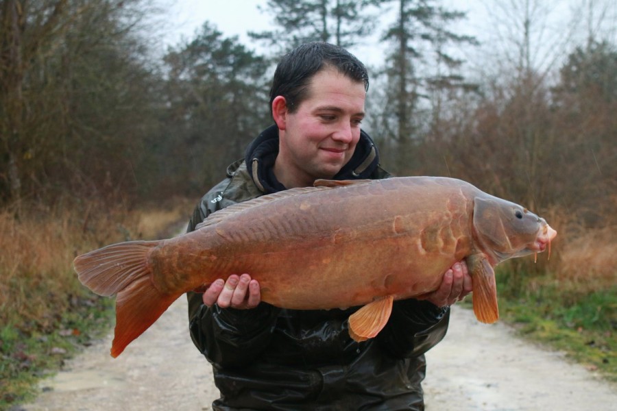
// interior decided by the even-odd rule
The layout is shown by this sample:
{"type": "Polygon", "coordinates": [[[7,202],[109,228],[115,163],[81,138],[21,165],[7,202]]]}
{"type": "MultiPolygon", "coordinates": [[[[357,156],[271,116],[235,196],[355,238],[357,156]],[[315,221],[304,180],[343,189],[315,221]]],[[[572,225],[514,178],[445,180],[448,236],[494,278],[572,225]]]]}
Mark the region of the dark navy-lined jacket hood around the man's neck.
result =
{"type": "MultiPolygon", "coordinates": [[[[269,194],[286,190],[274,175],[274,160],[278,155],[278,127],[271,125],[253,140],[246,149],[245,162],[248,172],[260,190],[269,194]]],[[[379,153],[372,138],[360,131],[360,140],[352,158],[333,179],[370,178],[379,164],[379,153]]]]}

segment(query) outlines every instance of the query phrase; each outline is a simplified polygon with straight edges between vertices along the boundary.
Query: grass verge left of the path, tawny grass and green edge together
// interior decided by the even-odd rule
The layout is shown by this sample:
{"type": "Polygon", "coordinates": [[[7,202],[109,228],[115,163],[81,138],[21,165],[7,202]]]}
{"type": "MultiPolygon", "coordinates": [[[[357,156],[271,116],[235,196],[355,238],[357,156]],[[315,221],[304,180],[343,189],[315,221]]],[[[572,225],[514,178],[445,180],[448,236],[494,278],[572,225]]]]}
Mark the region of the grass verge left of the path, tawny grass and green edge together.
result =
{"type": "Polygon", "coordinates": [[[112,242],[177,234],[193,203],[169,204],[0,210],[0,410],[32,399],[41,378],[109,331],[114,300],[80,284],[73,258],[112,242]]]}

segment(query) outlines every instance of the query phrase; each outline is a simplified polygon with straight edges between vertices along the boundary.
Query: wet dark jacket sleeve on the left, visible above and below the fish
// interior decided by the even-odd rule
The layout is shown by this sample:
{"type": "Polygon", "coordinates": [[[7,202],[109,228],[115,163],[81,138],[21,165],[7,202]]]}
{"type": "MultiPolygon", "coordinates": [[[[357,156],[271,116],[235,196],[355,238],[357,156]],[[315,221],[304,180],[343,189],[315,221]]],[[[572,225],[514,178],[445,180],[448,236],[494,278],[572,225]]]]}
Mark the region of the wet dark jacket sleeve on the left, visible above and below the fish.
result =
{"type": "MultiPolygon", "coordinates": [[[[197,205],[188,232],[206,217],[220,210],[219,186],[208,192],[197,205]]],[[[240,273],[239,273],[240,274],[240,273]]],[[[202,293],[187,292],[189,330],[193,343],[209,362],[217,366],[243,366],[258,357],[271,338],[280,309],[261,303],[251,310],[208,308],[202,293]]]]}

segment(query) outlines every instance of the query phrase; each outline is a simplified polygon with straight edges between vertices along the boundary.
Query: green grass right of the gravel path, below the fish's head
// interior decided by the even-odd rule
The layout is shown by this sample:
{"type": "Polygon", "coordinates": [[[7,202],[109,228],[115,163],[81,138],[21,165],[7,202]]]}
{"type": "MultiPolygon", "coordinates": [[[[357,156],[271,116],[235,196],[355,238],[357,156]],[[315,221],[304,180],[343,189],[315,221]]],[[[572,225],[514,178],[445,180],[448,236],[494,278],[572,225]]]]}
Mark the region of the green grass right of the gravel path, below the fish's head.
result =
{"type": "Polygon", "coordinates": [[[617,285],[583,290],[549,274],[497,274],[501,318],[617,382],[617,285]]]}

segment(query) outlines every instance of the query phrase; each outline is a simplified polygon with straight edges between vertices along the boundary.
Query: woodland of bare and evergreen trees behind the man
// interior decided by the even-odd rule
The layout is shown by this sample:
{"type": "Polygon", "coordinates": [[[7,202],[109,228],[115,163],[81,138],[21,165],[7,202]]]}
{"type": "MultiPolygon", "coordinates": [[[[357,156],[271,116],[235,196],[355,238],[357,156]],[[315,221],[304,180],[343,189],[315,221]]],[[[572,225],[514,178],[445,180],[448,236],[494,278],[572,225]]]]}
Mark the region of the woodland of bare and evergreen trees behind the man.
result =
{"type": "Polygon", "coordinates": [[[507,27],[502,53],[452,32],[465,14],[439,1],[278,0],[263,10],[271,32],[252,36],[269,55],[206,21],[162,56],[148,22],[165,10],[151,3],[2,0],[0,206],[197,197],[271,123],[282,53],[307,40],[353,51],[381,32],[364,127],[387,169],[461,177],[589,227],[614,223],[614,2],[572,1],[584,23],[564,18],[561,37],[581,38],[577,30],[585,40],[560,42],[548,65],[534,60],[557,48],[534,44],[549,12],[540,1],[492,5],[496,31],[507,27]],[[380,20],[384,8],[398,10],[396,21],[380,20]],[[466,61],[482,47],[492,59],[466,61]]]}

